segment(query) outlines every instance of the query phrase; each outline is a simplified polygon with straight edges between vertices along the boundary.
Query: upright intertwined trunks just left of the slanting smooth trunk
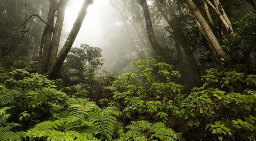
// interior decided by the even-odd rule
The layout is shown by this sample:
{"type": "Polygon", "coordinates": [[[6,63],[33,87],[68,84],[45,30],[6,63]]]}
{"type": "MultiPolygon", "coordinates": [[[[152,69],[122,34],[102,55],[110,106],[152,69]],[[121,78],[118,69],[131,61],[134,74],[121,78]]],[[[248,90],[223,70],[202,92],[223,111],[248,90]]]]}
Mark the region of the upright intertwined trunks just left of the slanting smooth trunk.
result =
{"type": "Polygon", "coordinates": [[[67,1],[60,0],[57,2],[57,0],[50,0],[47,23],[51,26],[45,25],[42,33],[37,67],[39,74],[45,74],[48,71],[53,59],[57,55],[67,1]],[[56,15],[56,24],[54,25],[56,11],[58,13],[56,15]]]}

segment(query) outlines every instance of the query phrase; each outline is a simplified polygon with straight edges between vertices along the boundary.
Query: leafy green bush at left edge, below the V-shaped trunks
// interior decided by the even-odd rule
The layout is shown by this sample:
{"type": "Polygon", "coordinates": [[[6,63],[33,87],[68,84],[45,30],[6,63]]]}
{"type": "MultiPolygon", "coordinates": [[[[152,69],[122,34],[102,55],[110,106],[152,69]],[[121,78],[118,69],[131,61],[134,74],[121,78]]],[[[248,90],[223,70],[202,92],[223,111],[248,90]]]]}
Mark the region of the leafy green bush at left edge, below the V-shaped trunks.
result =
{"type": "Polygon", "coordinates": [[[6,79],[0,85],[1,104],[15,105],[13,114],[23,126],[33,126],[50,118],[51,114],[60,110],[67,97],[65,93],[54,89],[60,81],[47,80],[45,76],[30,74],[25,69],[2,74],[5,74],[6,79]]]}

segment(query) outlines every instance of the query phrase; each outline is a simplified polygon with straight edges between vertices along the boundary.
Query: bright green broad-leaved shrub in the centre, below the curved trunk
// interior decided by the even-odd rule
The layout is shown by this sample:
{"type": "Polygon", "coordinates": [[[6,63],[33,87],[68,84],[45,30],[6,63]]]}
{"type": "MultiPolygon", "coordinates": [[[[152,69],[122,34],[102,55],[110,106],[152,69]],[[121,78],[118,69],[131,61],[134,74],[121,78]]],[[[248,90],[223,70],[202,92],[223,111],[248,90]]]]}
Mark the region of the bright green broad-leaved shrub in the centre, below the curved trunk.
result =
{"type": "Polygon", "coordinates": [[[171,70],[173,66],[153,58],[135,61],[134,72],[126,72],[106,87],[113,92],[114,102],[128,118],[167,120],[167,99],[181,93],[182,86],[171,82],[172,77],[180,77],[179,72],[171,70]],[[159,81],[160,79],[161,81],[159,81]]]}

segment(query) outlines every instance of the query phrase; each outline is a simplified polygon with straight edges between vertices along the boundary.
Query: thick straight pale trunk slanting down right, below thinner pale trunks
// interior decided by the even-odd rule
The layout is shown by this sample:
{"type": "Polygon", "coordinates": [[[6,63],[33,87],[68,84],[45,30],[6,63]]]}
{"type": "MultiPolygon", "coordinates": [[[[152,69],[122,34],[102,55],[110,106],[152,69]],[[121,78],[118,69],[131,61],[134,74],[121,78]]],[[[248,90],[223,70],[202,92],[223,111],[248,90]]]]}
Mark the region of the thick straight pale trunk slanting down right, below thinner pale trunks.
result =
{"type": "MultiPolygon", "coordinates": [[[[198,22],[199,22],[200,26],[202,27],[204,33],[206,34],[207,38],[210,40],[210,42],[214,48],[214,52],[216,52],[216,54],[220,60],[224,60],[226,58],[226,53],[221,48],[218,39],[213,34],[213,31],[211,30],[210,26],[204,19],[203,15],[200,13],[200,11],[198,10],[198,8],[196,7],[196,5],[194,4],[194,2],[192,0],[185,0],[185,1],[188,4],[188,6],[190,7],[191,11],[193,12],[195,18],[198,20],[198,22]]],[[[212,53],[214,54],[214,52],[212,52],[212,53]]]]}

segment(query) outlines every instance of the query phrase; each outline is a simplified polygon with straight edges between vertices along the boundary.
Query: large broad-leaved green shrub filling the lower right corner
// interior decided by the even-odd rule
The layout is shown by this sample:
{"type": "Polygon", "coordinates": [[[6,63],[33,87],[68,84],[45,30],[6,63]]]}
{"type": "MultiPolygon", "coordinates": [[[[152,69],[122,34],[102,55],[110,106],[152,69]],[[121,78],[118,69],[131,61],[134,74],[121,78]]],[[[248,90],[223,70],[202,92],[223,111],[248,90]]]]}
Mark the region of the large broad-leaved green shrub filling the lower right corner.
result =
{"type": "Polygon", "coordinates": [[[194,88],[186,98],[177,97],[179,102],[171,107],[173,113],[183,117],[190,126],[205,126],[206,131],[217,134],[219,140],[236,140],[241,136],[254,140],[256,92],[246,89],[245,85],[254,86],[253,79],[248,78],[255,76],[246,76],[237,70],[207,72],[203,76],[204,87],[194,88]]]}

